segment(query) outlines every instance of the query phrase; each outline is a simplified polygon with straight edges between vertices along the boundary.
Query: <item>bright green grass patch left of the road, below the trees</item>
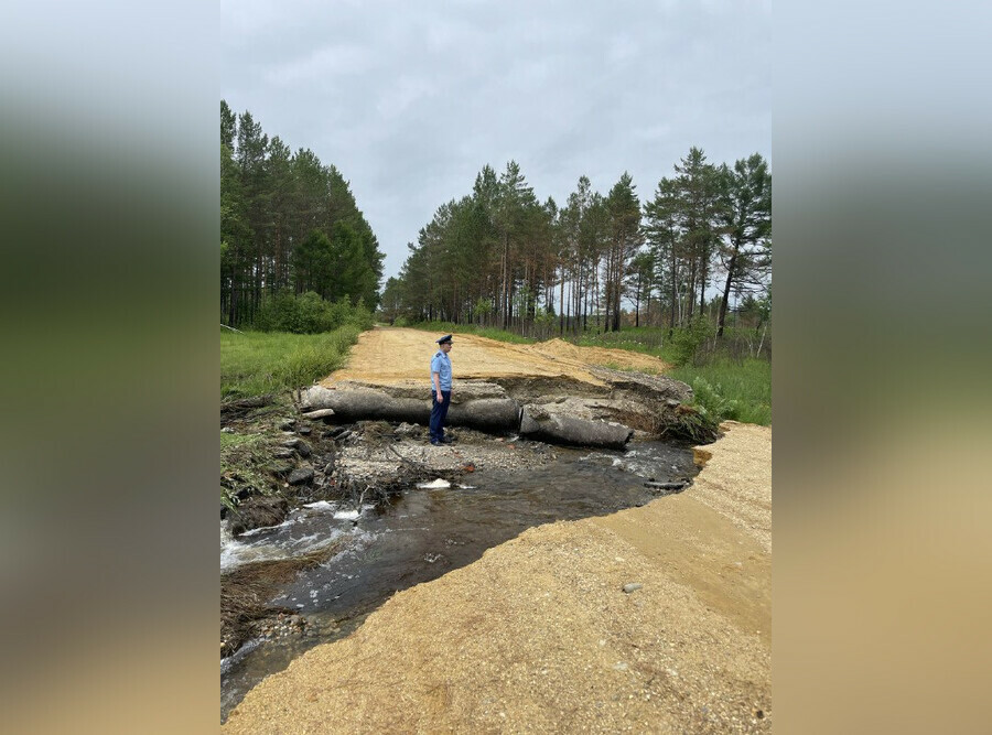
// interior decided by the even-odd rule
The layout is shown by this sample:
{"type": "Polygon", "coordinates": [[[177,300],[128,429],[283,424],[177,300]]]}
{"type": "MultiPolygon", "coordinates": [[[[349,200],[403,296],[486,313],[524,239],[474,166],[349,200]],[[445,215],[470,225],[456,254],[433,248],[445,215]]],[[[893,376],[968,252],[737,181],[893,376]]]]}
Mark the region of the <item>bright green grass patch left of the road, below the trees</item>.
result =
{"type": "Polygon", "coordinates": [[[342,367],[357,326],[323,334],[220,333],[220,397],[244,398],[308,386],[342,367]]]}

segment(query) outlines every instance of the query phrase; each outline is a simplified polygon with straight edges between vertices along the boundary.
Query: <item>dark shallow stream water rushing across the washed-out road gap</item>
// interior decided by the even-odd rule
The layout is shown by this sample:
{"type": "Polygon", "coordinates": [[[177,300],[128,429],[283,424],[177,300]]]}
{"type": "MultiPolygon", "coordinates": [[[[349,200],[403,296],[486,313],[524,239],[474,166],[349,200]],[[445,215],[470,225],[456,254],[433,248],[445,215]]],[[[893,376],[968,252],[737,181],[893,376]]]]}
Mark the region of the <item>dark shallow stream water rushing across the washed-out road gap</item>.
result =
{"type": "Polygon", "coordinates": [[[302,636],[250,641],[222,661],[222,717],[266,675],[347,635],[395,592],[464,566],[532,526],[644,505],[656,497],[646,479],[696,472],[691,448],[660,442],[627,452],[561,450],[557,462],[537,469],[468,474],[449,488],[411,486],[378,507],[313,504],[279,527],[222,538],[222,569],[342,544],[271,601],[306,619],[302,636]]]}

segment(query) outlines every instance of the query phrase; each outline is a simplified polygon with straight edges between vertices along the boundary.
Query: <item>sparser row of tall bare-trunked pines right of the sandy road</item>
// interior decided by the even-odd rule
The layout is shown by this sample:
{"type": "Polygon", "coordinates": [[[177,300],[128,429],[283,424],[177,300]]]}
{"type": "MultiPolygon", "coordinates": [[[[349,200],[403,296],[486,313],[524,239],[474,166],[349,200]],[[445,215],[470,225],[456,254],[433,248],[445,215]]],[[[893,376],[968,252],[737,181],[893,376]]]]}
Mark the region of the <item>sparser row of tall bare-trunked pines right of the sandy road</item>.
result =
{"type": "Polygon", "coordinates": [[[515,161],[499,175],[486,165],[408,248],[382,292],[387,318],[564,334],[618,331],[627,313],[676,328],[719,289],[722,335],[732,296],[769,298],[772,175],[758,153],[716,165],[693,147],[643,204],[625,172],[605,196],[581,176],[559,206],[515,161]]]}

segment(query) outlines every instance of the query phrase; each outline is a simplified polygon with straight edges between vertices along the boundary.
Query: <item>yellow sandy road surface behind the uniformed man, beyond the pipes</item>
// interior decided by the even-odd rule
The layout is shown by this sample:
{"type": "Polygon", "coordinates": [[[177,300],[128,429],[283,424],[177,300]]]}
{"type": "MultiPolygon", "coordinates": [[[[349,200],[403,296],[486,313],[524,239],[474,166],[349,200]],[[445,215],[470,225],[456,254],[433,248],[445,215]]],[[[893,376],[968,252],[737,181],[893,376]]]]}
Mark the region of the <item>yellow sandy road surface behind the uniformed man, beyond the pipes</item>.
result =
{"type": "MultiPolygon", "coordinates": [[[[322,381],[363,380],[388,385],[403,380],[430,380],[430,360],[442,335],[418,329],[376,327],[358,337],[347,365],[322,381]]],[[[575,347],[561,339],[536,345],[514,345],[471,334],[454,335],[449,354],[455,380],[506,377],[568,377],[594,386],[604,385],[587,365],[661,372],[669,366],[656,357],[624,349],[575,347]]]]}

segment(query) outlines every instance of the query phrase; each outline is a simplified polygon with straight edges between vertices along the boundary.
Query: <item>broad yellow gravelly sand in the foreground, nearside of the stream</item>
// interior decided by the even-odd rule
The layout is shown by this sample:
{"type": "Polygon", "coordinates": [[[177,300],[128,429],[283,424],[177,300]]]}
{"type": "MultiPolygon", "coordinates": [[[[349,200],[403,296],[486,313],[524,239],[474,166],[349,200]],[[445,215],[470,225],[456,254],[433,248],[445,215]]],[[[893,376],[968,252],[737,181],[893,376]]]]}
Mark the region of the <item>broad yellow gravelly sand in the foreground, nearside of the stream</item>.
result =
{"type": "Polygon", "coordinates": [[[223,732],[769,731],[772,430],[724,429],[681,495],[530,529],[398,593],[223,732]]]}

